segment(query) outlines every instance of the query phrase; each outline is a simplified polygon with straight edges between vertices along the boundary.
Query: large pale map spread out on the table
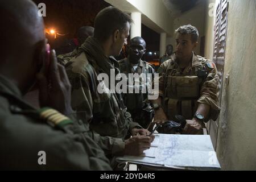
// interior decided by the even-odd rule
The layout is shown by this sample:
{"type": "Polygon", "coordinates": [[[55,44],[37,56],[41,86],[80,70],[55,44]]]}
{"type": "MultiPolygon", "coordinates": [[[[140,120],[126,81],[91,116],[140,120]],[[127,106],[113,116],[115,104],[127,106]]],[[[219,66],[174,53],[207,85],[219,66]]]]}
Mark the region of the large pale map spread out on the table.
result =
{"type": "Polygon", "coordinates": [[[220,164],[209,135],[155,134],[151,147],[141,156],[122,156],[118,162],[149,166],[218,170],[220,164]]]}

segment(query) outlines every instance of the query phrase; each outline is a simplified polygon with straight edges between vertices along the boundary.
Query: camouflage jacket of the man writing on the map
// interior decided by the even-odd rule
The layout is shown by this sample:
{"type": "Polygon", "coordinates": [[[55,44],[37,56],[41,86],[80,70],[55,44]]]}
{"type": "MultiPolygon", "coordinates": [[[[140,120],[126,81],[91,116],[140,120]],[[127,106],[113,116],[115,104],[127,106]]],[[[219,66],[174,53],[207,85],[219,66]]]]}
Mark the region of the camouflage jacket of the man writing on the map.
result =
{"type": "MultiPolygon", "coordinates": [[[[93,38],[88,38],[86,42],[90,40],[93,38]]],[[[95,49],[98,49],[100,46],[96,47],[95,49]]],[[[95,51],[95,54],[100,54],[98,52],[102,50],[95,51]]],[[[106,85],[102,85],[103,81],[100,84],[97,79],[100,73],[110,71],[105,71],[105,64],[113,65],[118,73],[116,60],[103,56],[101,60],[96,61],[95,57],[82,51],[69,61],[66,71],[72,85],[73,109],[86,112],[85,125],[87,122],[90,123],[90,128],[96,132],[93,135],[94,141],[101,146],[106,155],[111,157],[123,152],[124,139],[130,137],[131,129],[141,126],[132,121],[130,113],[123,105],[121,94],[98,92],[98,86],[108,89],[106,85]]]]}

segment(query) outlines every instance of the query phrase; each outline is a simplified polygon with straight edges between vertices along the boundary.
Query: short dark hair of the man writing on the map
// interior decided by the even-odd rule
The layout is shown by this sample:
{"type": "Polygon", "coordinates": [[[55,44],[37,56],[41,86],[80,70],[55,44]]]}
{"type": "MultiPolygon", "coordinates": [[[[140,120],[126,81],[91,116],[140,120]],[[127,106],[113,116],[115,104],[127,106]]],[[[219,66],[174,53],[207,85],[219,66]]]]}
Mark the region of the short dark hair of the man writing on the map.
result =
{"type": "Polygon", "coordinates": [[[128,14],[113,6],[106,7],[97,14],[94,20],[94,37],[104,41],[115,30],[123,30],[127,22],[133,22],[128,14]]]}

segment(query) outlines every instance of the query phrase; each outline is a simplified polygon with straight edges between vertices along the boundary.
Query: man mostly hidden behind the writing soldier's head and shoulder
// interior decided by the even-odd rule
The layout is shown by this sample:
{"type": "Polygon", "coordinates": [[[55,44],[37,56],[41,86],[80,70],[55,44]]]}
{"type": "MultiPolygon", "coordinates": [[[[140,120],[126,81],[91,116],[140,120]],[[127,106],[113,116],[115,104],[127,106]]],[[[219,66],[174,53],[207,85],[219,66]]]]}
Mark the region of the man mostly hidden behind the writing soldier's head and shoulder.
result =
{"type": "MultiPolygon", "coordinates": [[[[82,43],[85,42],[88,36],[93,36],[93,31],[94,31],[94,28],[90,26],[79,28],[79,30],[77,31],[77,39],[79,42],[79,47],[82,45],[82,43]]],[[[72,57],[77,55],[79,47],[75,48],[72,52],[58,55],[57,56],[58,63],[60,63],[61,65],[67,64],[72,57]]]]}

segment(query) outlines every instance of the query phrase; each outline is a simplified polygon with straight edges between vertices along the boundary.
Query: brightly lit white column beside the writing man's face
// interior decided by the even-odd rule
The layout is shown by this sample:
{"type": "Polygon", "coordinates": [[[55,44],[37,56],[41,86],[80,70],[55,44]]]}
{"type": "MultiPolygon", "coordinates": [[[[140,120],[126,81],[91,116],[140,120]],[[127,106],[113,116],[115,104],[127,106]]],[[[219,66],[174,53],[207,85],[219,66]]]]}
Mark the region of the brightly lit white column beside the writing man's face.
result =
{"type": "Polygon", "coordinates": [[[131,23],[130,38],[133,39],[135,36],[141,36],[141,13],[131,13],[131,19],[134,23],[131,23]]]}

